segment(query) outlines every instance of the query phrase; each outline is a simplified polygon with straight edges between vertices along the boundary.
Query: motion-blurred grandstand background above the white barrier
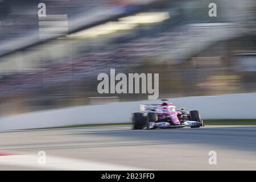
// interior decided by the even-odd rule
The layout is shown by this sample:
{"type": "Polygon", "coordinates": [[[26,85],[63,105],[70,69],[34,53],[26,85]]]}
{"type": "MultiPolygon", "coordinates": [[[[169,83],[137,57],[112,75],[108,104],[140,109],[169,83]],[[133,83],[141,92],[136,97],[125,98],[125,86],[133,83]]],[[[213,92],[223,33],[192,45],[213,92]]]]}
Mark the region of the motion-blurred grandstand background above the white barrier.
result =
{"type": "Polygon", "coordinates": [[[0,115],[147,99],[99,94],[110,68],[159,73],[159,98],[256,92],[256,2],[0,0],[0,115]]]}

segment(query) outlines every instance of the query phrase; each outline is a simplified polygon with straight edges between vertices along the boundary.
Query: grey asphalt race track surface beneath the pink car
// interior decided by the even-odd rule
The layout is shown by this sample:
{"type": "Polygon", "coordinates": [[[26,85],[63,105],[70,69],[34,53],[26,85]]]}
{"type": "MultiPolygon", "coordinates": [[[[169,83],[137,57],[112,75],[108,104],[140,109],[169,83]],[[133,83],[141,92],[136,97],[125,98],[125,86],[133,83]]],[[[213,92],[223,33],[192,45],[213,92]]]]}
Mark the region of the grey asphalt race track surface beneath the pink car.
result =
{"type": "MultiPolygon", "coordinates": [[[[256,170],[256,126],[85,127],[10,131],[0,138],[0,152],[15,154],[43,150],[47,155],[153,170],[256,170]],[[209,164],[209,151],[216,152],[216,165],[209,164]]],[[[0,163],[0,170],[6,169],[37,168],[0,163]]]]}

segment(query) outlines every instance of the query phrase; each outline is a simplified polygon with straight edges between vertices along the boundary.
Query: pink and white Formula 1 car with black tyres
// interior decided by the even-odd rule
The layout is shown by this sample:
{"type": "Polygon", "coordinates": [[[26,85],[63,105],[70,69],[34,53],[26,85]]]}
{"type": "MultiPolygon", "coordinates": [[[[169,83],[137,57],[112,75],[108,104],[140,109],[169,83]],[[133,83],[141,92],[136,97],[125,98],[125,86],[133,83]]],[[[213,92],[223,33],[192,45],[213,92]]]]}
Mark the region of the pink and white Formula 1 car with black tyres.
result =
{"type": "Polygon", "coordinates": [[[131,120],[133,129],[177,128],[189,126],[198,128],[204,126],[199,111],[186,111],[184,108],[175,110],[175,106],[168,100],[160,104],[141,105],[141,112],[133,113],[131,120]]]}

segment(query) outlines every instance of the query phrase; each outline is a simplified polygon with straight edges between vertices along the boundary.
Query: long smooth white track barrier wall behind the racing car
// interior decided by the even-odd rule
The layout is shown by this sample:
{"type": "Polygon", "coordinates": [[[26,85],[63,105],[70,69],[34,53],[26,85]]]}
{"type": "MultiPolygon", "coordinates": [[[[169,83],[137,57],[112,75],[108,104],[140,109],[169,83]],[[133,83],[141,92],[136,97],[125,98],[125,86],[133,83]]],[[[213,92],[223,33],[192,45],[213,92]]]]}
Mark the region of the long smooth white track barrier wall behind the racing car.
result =
{"type": "MultiPolygon", "coordinates": [[[[36,129],[69,125],[127,123],[139,104],[158,101],[118,102],[36,111],[0,119],[0,130],[36,129]]],[[[170,98],[176,108],[199,110],[203,119],[256,119],[256,93],[170,98]]]]}

